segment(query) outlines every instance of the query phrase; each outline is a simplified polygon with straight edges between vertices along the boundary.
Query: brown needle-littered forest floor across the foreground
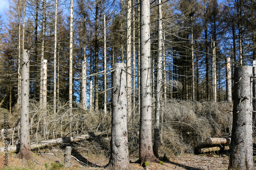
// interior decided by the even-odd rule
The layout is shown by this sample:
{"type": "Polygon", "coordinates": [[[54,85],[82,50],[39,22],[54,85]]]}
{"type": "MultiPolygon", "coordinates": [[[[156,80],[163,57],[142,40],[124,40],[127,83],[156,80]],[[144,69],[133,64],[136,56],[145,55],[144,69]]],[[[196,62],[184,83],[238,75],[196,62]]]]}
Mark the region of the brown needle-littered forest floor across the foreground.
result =
{"type": "MultiPolygon", "coordinates": [[[[69,169],[104,169],[104,165],[108,164],[109,159],[101,154],[93,154],[89,151],[81,150],[72,151],[72,155],[78,160],[82,161],[86,166],[83,166],[75,158],[72,158],[72,167],[69,169]]],[[[0,169],[67,169],[63,167],[64,162],[64,149],[51,148],[38,150],[33,152],[36,158],[42,165],[36,164],[35,161],[21,164],[21,159],[14,158],[15,153],[8,154],[8,166],[4,162],[4,153],[0,154],[0,169]]],[[[225,154],[168,154],[168,159],[164,155],[162,161],[163,165],[152,163],[148,169],[227,169],[229,157],[225,154]]],[[[130,157],[131,166],[134,169],[144,169],[139,163],[136,163],[137,157],[130,157]]],[[[254,163],[255,164],[255,163],[254,163]]],[[[256,165],[256,164],[255,164],[256,165]]],[[[254,165],[254,167],[256,167],[254,165]]]]}

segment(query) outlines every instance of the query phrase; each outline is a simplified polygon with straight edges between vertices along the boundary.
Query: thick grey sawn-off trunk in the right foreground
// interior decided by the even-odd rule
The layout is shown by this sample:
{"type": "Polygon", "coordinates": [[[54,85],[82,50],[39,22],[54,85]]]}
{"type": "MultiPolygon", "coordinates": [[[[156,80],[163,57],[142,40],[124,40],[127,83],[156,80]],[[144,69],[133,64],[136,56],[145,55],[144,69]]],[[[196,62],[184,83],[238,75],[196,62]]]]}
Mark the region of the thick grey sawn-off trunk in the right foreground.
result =
{"type": "Polygon", "coordinates": [[[254,169],[252,159],[252,67],[234,70],[233,123],[229,168],[254,169]]]}

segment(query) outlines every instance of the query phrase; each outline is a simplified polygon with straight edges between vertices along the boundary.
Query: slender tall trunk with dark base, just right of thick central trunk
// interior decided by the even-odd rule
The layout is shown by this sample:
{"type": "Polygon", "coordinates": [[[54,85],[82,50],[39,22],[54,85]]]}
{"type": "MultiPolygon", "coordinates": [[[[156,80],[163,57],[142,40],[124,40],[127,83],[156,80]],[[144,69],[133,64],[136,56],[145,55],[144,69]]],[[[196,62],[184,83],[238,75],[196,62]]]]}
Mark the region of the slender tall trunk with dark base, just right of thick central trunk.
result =
{"type": "Polygon", "coordinates": [[[158,49],[157,49],[157,91],[156,91],[156,112],[155,112],[155,128],[154,128],[154,145],[153,151],[158,157],[159,136],[160,136],[160,112],[161,112],[161,88],[162,88],[162,2],[158,0],[158,49]]]}

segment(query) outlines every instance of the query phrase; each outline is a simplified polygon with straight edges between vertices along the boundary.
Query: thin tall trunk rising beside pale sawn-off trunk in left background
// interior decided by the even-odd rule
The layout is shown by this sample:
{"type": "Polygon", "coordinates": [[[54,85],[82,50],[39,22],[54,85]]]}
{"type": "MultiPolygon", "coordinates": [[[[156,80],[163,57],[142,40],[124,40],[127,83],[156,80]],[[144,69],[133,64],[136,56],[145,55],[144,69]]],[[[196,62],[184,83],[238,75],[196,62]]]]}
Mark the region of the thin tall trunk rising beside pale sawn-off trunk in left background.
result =
{"type": "Polygon", "coordinates": [[[41,44],[41,61],[40,61],[40,96],[39,96],[39,107],[42,107],[42,65],[45,58],[45,35],[46,35],[46,0],[42,5],[42,44],[41,44]]]}

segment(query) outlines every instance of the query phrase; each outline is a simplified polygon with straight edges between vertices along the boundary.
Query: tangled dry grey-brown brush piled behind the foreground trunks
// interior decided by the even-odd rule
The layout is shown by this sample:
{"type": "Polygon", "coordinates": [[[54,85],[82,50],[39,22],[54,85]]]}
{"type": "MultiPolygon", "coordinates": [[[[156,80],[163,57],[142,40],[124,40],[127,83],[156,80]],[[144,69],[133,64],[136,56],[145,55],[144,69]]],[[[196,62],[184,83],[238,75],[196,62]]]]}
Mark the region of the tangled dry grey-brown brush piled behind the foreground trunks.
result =
{"type": "MultiPolygon", "coordinates": [[[[196,145],[204,142],[207,137],[220,137],[230,133],[231,129],[227,127],[231,127],[232,124],[231,110],[232,105],[227,102],[199,103],[170,100],[164,103],[161,123],[162,151],[193,153],[196,145]]],[[[6,111],[1,110],[1,112],[6,111]]],[[[19,115],[14,113],[9,116],[10,128],[17,124],[18,118],[19,115]]],[[[134,112],[132,118],[128,120],[129,149],[130,154],[134,156],[138,155],[139,118],[140,115],[134,112]]],[[[57,112],[54,114],[50,103],[46,108],[39,108],[38,102],[31,100],[30,130],[31,142],[102,132],[100,136],[79,141],[77,144],[87,151],[92,149],[97,152],[103,148],[105,154],[109,155],[111,111],[104,114],[101,111],[83,110],[79,107],[70,110],[68,104],[59,102],[57,112]]],[[[14,138],[17,140],[18,134],[15,134],[14,138]]]]}

